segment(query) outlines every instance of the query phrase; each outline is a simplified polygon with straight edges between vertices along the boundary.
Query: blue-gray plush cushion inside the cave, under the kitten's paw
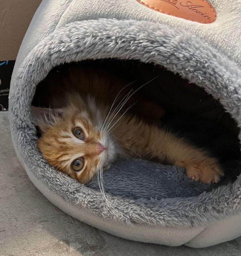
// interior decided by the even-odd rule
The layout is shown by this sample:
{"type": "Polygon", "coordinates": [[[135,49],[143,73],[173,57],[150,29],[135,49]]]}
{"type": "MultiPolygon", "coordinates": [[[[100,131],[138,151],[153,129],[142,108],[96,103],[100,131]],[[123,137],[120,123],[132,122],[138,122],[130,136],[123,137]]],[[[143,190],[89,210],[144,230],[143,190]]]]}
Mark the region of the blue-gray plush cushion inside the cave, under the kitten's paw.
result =
{"type": "MultiPolygon", "coordinates": [[[[184,168],[150,163],[142,159],[116,162],[103,173],[103,179],[105,190],[111,195],[132,198],[146,204],[158,203],[164,198],[198,196],[218,186],[215,183],[204,184],[189,179],[184,168]]],[[[100,190],[96,178],[87,186],[100,190]]]]}

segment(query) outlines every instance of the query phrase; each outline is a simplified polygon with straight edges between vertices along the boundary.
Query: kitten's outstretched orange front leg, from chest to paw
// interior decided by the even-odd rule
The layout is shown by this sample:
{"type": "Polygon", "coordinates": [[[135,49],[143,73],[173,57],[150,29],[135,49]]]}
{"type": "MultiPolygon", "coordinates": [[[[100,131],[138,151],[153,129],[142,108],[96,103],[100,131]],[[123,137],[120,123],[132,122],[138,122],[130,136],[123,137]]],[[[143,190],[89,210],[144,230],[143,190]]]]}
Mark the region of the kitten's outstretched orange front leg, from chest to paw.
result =
{"type": "Polygon", "coordinates": [[[138,118],[123,116],[114,133],[130,157],[157,157],[161,162],[185,167],[189,178],[203,183],[218,182],[224,175],[218,160],[202,149],[138,118]]]}

